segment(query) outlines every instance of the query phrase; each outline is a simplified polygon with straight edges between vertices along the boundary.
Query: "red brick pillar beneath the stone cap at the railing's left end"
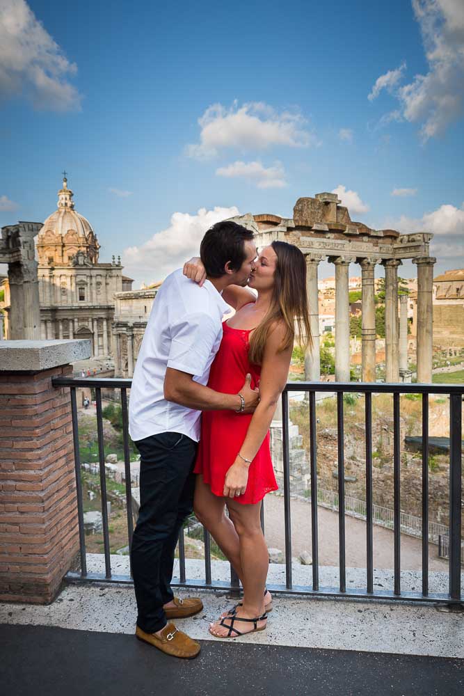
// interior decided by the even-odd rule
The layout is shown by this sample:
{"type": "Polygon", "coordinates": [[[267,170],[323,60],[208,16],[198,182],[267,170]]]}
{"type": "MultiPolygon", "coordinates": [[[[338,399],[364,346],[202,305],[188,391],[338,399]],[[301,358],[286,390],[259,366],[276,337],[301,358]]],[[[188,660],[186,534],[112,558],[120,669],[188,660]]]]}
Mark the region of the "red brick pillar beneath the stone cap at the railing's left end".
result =
{"type": "Polygon", "coordinates": [[[53,601],[79,551],[69,374],[0,372],[1,601],[53,601]]]}

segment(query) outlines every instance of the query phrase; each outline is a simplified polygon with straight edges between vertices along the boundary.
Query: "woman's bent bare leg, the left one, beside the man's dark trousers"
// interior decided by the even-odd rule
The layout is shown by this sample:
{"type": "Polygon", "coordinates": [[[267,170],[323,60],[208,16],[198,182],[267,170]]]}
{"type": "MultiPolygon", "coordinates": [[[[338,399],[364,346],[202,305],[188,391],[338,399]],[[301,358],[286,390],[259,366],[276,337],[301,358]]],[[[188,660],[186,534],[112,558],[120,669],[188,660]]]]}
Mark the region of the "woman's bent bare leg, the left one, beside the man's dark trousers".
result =
{"type": "Polygon", "coordinates": [[[218,498],[214,493],[211,493],[211,489],[208,484],[205,484],[201,474],[196,477],[193,510],[198,521],[214,537],[214,541],[241,579],[239,536],[232,521],[225,514],[225,499],[218,498]]]}

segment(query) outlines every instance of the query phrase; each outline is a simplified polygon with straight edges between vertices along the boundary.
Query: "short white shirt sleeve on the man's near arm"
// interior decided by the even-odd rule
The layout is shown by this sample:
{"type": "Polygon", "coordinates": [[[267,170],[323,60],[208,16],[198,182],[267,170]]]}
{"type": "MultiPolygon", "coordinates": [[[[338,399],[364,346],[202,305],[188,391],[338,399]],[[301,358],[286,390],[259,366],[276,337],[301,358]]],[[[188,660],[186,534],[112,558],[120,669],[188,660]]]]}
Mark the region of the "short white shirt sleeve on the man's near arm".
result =
{"type": "Polygon", "coordinates": [[[168,367],[201,377],[218,338],[217,322],[208,314],[199,312],[173,324],[170,333],[168,367]]]}

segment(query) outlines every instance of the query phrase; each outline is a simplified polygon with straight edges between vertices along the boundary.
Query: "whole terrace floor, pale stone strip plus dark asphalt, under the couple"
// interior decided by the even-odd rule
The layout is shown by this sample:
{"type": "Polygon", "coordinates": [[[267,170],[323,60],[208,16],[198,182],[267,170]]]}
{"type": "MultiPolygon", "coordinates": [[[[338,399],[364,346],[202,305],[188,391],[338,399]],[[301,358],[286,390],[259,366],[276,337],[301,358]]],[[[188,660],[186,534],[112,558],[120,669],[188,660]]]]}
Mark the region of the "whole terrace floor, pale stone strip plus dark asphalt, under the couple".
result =
{"type": "MultiPolygon", "coordinates": [[[[112,556],[113,572],[127,573],[127,561],[112,556]]],[[[88,555],[88,567],[102,571],[101,555],[88,555]]],[[[187,560],[186,571],[201,578],[204,565],[187,560]]],[[[227,573],[227,564],[213,562],[213,580],[227,573]]],[[[295,567],[296,583],[307,583],[307,573],[310,567],[295,567]]],[[[269,580],[282,583],[284,574],[284,567],[271,565],[269,580]]],[[[364,574],[351,570],[360,586],[364,574]]],[[[390,576],[376,571],[376,585],[387,587],[390,576]]],[[[335,569],[321,569],[321,583],[334,579],[335,569]]],[[[431,574],[435,590],[443,590],[445,580],[431,574]]],[[[417,583],[417,574],[404,574],[405,589],[417,583]]],[[[429,604],[278,596],[266,631],[221,641],[211,640],[207,629],[230,598],[225,592],[190,594],[200,594],[205,606],[177,622],[202,644],[191,663],[135,640],[130,585],[72,584],[50,606],[0,604],[2,696],[463,693],[464,614],[429,604]]]]}

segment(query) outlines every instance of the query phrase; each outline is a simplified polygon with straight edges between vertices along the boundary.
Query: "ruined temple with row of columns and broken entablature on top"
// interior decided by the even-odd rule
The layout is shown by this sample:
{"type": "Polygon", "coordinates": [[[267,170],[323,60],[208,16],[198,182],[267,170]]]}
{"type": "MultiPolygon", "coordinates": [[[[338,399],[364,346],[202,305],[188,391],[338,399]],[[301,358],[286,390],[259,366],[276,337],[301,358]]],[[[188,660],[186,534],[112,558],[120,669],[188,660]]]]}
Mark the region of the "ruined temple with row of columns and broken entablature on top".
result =
{"type": "MultiPolygon", "coordinates": [[[[398,267],[404,259],[417,264],[417,381],[431,382],[432,374],[432,278],[435,258],[429,245],[433,235],[397,230],[374,230],[351,220],[349,210],[335,193],[298,198],[292,218],[274,213],[232,218],[255,233],[258,248],[274,240],[295,244],[307,265],[307,299],[310,308],[313,349],[305,356],[305,376],[319,381],[318,267],[323,260],[335,266],[335,379],[349,381],[349,266],[360,264],[362,281],[362,379],[376,374],[375,267],[385,267],[385,373],[386,380],[410,379],[407,369],[407,310],[398,317],[398,267]],[[400,345],[401,338],[401,345],[400,345]],[[405,357],[406,356],[406,357],[405,357]]],[[[359,272],[359,271],[357,271],[359,272]]]]}

